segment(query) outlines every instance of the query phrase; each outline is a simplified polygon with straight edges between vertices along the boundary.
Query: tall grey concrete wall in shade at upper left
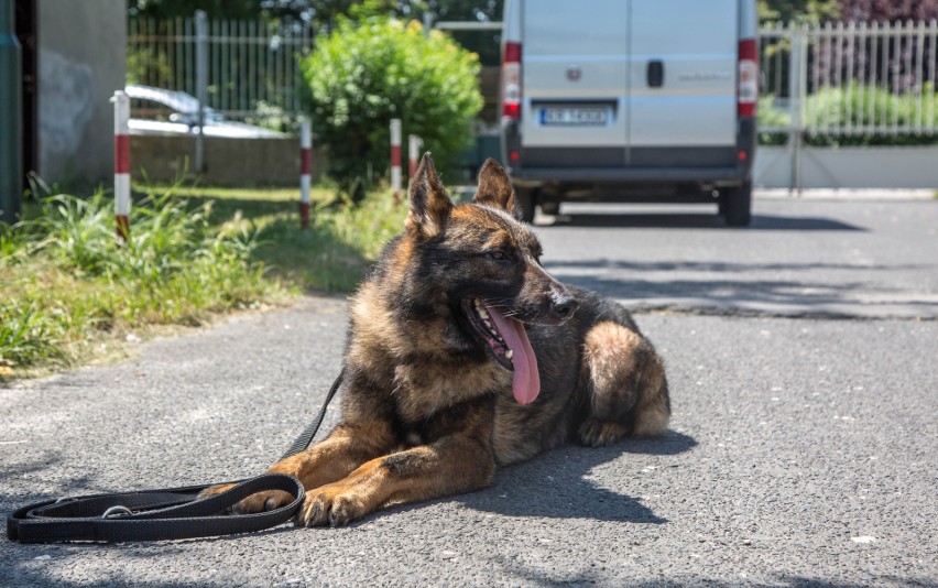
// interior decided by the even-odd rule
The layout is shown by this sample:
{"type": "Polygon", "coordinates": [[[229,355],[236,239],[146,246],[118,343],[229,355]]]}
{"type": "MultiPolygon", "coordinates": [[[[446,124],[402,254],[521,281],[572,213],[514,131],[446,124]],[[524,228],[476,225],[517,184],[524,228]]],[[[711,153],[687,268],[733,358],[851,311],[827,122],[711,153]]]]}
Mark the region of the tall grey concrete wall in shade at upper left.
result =
{"type": "Polygon", "coordinates": [[[113,175],[127,72],[127,0],[39,0],[39,170],[46,182],[113,175]]]}

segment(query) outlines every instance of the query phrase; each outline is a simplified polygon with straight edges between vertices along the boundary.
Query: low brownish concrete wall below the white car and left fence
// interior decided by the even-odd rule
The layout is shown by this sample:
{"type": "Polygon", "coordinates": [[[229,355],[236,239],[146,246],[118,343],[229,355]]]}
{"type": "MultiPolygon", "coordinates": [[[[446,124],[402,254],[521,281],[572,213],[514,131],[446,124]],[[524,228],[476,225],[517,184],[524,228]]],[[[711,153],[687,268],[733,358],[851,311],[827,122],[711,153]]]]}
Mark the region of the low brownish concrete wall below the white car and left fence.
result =
{"type": "MultiPolygon", "coordinates": [[[[192,175],[195,138],[190,135],[131,135],[130,168],[134,179],[174,182],[192,175]]],[[[313,150],[312,176],[325,171],[321,150],[313,150]]],[[[206,171],[199,181],[215,186],[298,186],[299,139],[205,138],[206,171]]]]}

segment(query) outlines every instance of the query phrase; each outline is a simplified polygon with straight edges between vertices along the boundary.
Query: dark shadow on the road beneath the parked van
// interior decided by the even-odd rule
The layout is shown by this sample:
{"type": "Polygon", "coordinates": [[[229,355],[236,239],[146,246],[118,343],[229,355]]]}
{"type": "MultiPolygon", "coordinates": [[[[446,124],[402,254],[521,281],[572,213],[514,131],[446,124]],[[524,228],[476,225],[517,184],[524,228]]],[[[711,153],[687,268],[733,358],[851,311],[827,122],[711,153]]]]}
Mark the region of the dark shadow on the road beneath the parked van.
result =
{"type": "Polygon", "coordinates": [[[752,216],[749,227],[730,227],[715,213],[629,213],[629,214],[561,214],[548,217],[553,222],[539,225],[550,227],[619,227],[623,229],[717,229],[717,230],[768,230],[768,231],[866,231],[864,227],[825,217],[752,216]]]}

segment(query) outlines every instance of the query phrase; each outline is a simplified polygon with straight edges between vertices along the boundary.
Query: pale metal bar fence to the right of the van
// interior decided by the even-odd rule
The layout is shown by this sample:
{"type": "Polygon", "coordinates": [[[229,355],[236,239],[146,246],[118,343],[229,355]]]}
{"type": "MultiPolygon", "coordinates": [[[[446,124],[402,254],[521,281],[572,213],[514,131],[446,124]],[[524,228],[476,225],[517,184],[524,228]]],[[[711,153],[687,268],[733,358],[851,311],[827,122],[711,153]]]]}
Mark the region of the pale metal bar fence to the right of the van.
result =
{"type": "Polygon", "coordinates": [[[760,131],[938,134],[938,22],[772,24],[760,31],[760,131]]]}

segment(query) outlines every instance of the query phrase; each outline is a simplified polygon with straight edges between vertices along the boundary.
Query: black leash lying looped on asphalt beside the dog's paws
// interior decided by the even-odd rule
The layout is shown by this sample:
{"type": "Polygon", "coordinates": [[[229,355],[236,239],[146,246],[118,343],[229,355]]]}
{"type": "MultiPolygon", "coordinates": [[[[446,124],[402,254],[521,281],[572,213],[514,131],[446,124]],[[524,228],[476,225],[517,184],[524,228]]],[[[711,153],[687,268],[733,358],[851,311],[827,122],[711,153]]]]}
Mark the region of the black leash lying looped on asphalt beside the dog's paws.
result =
{"type": "MultiPolygon", "coordinates": [[[[283,457],[303,451],[323,424],[326,409],[341,385],[339,373],[319,414],[283,457]]],[[[233,488],[206,499],[198,493],[216,486],[187,486],[161,490],[90,494],[35,502],[7,516],[7,537],[20,543],[59,541],[165,541],[252,533],[291,520],[303,504],[303,483],[293,476],[264,473],[237,482],[233,488]],[[255,492],[282,490],[293,500],[285,507],[254,514],[226,514],[255,492]]]]}

